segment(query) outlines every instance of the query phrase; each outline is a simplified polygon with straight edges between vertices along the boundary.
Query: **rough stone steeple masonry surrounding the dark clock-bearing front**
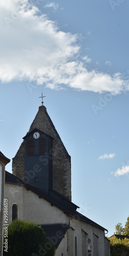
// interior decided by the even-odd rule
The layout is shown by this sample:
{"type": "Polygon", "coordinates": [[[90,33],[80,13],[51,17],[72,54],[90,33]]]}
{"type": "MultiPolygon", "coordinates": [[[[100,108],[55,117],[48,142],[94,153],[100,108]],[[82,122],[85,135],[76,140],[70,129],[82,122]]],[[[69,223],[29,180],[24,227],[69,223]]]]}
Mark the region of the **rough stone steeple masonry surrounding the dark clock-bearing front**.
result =
{"type": "MultiPolygon", "coordinates": [[[[46,107],[39,106],[38,112],[30,126],[29,133],[34,129],[53,138],[52,147],[52,180],[53,190],[71,200],[71,157],[63,145],[55,126],[50,119],[46,107]]],[[[26,136],[25,136],[26,138],[26,136]]],[[[12,172],[17,177],[24,179],[25,173],[25,140],[20,145],[12,163],[12,172]]]]}

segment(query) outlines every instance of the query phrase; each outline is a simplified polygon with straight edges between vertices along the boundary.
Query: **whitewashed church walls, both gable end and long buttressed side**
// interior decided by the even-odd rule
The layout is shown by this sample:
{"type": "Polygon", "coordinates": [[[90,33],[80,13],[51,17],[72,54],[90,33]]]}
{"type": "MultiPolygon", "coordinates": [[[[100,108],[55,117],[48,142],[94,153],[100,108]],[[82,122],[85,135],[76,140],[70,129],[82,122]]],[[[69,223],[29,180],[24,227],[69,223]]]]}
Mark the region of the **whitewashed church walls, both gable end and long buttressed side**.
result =
{"type": "MultiPolygon", "coordinates": [[[[51,206],[51,203],[42,198],[39,199],[38,195],[22,185],[6,183],[5,197],[9,202],[9,223],[12,220],[12,205],[17,204],[18,218],[21,220],[34,221],[37,224],[70,224],[71,228],[68,229],[65,238],[58,246],[56,256],[75,256],[75,237],[77,238],[77,256],[88,256],[90,254],[90,252],[88,253],[88,245],[92,250],[92,256],[106,255],[104,230],[71,216],[68,217],[62,210],[51,206]],[[89,239],[91,240],[90,244],[88,244],[89,239]],[[95,241],[98,241],[98,248],[95,241]]],[[[107,256],[110,256],[110,254],[107,254],[107,256]]]]}

